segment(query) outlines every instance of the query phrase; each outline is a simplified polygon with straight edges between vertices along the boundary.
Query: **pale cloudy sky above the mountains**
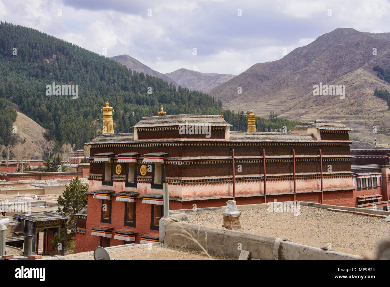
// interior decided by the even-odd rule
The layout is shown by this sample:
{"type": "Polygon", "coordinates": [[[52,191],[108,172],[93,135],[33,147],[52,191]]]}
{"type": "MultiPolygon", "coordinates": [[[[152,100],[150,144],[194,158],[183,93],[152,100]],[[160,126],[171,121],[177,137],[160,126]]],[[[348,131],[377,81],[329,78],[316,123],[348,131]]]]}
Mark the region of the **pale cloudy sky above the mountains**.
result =
{"type": "Polygon", "coordinates": [[[0,0],[2,21],[99,54],[106,48],[108,57],[128,54],[161,73],[184,67],[239,74],[338,27],[390,32],[389,13],[385,0],[0,0]]]}

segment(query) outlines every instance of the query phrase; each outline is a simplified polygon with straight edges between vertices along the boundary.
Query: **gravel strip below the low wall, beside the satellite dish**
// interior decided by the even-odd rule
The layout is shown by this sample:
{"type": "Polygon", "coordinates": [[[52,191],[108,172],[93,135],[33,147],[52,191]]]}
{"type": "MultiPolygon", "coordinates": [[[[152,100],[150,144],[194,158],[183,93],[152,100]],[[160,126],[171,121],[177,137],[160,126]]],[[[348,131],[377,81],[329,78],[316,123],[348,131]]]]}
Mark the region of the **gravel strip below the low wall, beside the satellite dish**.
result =
{"type": "MultiPolygon", "coordinates": [[[[191,248],[180,248],[165,243],[154,243],[151,246],[141,244],[107,250],[116,260],[210,260],[202,251],[191,248]],[[149,249],[148,249],[149,247],[149,249]]],[[[209,253],[214,260],[237,260],[237,258],[209,253]]],[[[93,252],[82,252],[64,256],[65,260],[94,260],[93,252]]]]}

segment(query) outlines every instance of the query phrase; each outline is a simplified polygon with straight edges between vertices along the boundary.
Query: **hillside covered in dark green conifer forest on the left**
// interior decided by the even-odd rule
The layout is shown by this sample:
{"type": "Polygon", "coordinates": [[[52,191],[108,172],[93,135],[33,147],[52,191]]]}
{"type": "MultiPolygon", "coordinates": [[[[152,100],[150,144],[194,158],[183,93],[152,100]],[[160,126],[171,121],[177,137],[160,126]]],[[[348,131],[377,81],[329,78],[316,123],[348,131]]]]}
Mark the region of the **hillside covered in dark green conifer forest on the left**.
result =
{"type": "MultiPolygon", "coordinates": [[[[245,113],[222,110],[222,102],[207,94],[181,87],[176,90],[160,78],[131,71],[38,30],[6,22],[0,22],[0,99],[12,101],[48,129],[48,139],[75,143],[76,148],[96,135],[106,101],[115,110],[115,133],[132,132],[131,127],[142,117],[157,115],[160,105],[168,115],[224,112],[232,130],[246,130],[245,113]],[[52,83],[78,85],[78,97],[47,96],[46,85],[52,83]]],[[[282,128],[280,120],[257,121],[267,128],[282,128]]],[[[295,124],[285,122],[287,129],[295,124]]]]}

